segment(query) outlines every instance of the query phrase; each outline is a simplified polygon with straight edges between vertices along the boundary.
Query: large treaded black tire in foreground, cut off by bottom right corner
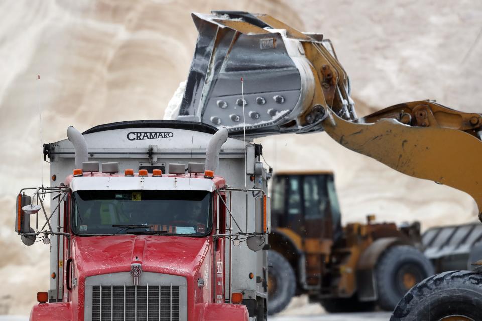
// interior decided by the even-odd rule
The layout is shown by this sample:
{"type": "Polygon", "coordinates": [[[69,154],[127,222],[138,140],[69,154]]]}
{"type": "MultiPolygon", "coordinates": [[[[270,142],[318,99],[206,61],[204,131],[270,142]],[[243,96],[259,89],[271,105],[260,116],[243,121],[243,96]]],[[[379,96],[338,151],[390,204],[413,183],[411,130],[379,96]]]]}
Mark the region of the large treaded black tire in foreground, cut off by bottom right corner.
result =
{"type": "Polygon", "coordinates": [[[431,276],[400,300],[390,321],[482,320],[482,275],[449,271],[431,276]]]}

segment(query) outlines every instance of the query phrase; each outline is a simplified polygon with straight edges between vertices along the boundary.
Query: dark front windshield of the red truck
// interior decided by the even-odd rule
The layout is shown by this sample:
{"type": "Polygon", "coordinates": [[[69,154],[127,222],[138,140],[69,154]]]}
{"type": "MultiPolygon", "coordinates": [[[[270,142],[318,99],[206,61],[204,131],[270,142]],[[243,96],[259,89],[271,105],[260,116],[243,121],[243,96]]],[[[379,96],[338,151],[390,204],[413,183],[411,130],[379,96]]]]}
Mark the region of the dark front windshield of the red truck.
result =
{"type": "Polygon", "coordinates": [[[72,231],[79,235],[207,235],[212,221],[207,191],[76,191],[72,231]]]}

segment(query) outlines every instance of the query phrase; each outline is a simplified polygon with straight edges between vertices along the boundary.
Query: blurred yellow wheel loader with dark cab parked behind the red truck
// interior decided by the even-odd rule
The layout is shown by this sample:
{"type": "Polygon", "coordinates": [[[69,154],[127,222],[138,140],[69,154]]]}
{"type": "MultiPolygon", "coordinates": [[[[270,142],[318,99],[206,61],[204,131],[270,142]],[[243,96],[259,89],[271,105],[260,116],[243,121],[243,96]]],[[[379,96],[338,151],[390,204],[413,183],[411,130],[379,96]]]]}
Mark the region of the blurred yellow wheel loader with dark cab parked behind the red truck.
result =
{"type": "Polygon", "coordinates": [[[278,172],[272,178],[268,313],[308,294],[329,312],[393,310],[434,274],[420,246],[420,225],[341,226],[332,172],[278,172]]]}

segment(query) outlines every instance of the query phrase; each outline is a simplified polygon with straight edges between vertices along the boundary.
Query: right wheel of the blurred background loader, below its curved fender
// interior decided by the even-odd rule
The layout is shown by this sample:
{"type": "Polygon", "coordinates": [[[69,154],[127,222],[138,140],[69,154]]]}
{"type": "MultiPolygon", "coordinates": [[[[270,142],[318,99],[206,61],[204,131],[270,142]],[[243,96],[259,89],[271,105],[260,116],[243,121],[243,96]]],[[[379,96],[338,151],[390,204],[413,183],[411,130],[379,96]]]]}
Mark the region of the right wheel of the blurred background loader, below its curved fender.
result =
{"type": "Polygon", "coordinates": [[[378,305],[393,311],[408,290],[433,274],[432,263],[416,248],[408,245],[388,248],[376,267],[378,305]]]}

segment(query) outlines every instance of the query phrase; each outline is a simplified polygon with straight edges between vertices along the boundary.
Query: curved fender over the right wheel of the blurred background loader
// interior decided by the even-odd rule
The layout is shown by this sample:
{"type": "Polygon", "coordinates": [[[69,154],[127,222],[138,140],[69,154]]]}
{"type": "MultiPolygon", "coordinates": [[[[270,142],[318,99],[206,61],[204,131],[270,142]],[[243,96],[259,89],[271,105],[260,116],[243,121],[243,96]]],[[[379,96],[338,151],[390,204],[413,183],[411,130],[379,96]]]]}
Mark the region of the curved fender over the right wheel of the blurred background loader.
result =
{"type": "Polygon", "coordinates": [[[363,251],[356,265],[356,288],[360,301],[378,299],[375,265],[382,253],[394,245],[413,245],[410,239],[399,237],[383,237],[375,240],[363,251]]]}

